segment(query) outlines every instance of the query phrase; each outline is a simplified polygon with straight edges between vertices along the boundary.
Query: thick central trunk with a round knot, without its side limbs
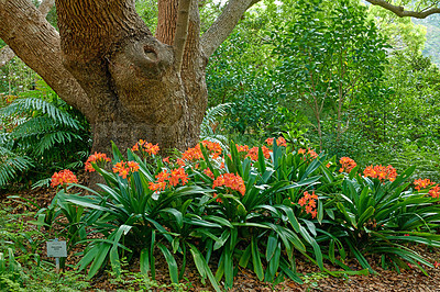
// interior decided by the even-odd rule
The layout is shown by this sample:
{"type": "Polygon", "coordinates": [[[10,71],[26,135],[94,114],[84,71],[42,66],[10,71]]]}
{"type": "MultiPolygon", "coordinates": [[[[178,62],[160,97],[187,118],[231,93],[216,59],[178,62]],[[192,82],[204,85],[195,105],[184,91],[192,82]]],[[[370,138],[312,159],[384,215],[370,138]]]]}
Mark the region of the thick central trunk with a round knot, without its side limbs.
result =
{"type": "Polygon", "coordinates": [[[64,66],[96,113],[92,150],[109,148],[110,141],[131,147],[140,138],[162,148],[197,143],[193,119],[202,117],[205,106],[190,105],[206,100],[206,85],[195,91],[185,85],[195,82],[195,74],[205,76],[204,67],[182,78],[175,48],[151,34],[134,1],[56,0],[56,7],[64,66]]]}

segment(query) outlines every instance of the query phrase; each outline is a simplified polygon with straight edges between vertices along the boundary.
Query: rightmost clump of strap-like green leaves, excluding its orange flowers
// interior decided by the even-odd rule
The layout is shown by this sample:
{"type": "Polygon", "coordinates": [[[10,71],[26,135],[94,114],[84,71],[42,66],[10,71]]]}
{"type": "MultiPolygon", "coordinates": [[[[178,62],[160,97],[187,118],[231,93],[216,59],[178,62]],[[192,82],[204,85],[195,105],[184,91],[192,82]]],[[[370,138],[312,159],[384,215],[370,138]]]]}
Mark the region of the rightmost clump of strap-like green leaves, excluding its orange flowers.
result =
{"type": "MultiPolygon", "coordinates": [[[[386,180],[361,177],[358,168],[353,169],[340,192],[329,194],[324,207],[330,218],[324,222],[321,238],[330,240],[329,247],[345,242],[360,265],[371,272],[374,270],[366,255],[385,257],[396,269],[407,269],[410,263],[426,273],[422,266],[432,263],[408,245],[440,245],[440,236],[435,233],[439,199],[427,195],[427,190],[408,189],[414,170],[410,167],[395,180],[386,180]]],[[[333,252],[329,248],[329,259],[336,262],[333,252]]]]}

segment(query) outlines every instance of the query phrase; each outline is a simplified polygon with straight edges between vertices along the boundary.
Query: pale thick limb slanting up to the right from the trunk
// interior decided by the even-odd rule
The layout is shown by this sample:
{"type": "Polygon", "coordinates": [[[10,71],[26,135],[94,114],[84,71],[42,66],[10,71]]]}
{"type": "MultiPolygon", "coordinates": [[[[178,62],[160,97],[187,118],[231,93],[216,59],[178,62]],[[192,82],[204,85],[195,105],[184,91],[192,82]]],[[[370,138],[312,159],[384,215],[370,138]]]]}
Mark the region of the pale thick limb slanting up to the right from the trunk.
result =
{"type": "Polygon", "coordinates": [[[243,13],[260,0],[230,0],[220,16],[201,36],[201,46],[207,57],[228,38],[243,13]]]}

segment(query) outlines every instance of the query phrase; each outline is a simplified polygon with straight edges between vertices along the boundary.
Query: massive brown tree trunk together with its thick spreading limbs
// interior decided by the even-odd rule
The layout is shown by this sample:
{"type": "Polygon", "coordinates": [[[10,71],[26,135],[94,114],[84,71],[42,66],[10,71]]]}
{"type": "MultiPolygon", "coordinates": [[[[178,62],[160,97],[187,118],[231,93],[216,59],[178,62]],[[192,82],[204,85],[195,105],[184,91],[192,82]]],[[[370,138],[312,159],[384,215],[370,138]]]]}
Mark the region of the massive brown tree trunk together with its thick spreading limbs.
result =
{"type": "Polygon", "coordinates": [[[134,0],[55,0],[59,35],[31,0],[0,0],[0,37],[85,114],[92,151],[140,138],[186,149],[207,106],[208,57],[256,1],[230,0],[200,40],[198,0],[158,0],[157,38],[134,0]]]}

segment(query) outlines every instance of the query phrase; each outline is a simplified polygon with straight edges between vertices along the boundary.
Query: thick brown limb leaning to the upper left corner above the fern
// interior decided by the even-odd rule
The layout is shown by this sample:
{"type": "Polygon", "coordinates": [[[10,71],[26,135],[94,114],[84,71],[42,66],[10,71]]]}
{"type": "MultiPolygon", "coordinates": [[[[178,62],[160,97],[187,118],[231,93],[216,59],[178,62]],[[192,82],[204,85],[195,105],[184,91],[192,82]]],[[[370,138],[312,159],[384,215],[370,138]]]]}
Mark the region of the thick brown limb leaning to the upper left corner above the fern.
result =
{"type": "Polygon", "coordinates": [[[68,104],[92,122],[86,92],[63,67],[59,35],[30,0],[0,1],[0,37],[68,104]]]}

